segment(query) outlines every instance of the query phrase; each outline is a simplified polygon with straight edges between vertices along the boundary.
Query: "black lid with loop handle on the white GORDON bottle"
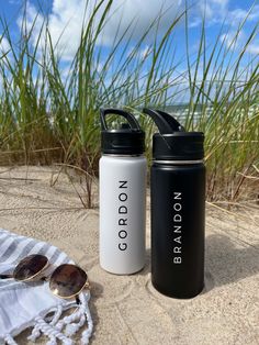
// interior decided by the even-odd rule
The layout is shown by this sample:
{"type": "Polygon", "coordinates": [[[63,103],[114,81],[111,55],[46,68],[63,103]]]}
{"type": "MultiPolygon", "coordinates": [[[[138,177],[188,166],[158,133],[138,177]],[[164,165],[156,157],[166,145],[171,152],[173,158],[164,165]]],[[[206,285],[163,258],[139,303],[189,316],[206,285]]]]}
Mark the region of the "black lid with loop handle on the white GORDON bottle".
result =
{"type": "Polygon", "coordinates": [[[137,120],[130,112],[121,109],[101,109],[101,149],[110,155],[142,155],[145,152],[145,132],[137,120]],[[117,130],[109,130],[105,116],[115,114],[123,116],[127,122],[117,130]]]}

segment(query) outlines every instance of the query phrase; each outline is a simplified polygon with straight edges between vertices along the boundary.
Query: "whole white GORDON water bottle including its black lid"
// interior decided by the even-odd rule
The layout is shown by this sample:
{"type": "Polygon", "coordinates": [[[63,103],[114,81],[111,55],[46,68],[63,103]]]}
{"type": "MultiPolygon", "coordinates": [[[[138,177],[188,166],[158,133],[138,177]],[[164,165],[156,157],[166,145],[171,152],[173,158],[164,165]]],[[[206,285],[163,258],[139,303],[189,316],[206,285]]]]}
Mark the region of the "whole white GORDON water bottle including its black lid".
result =
{"type": "Polygon", "coordinates": [[[130,275],[145,265],[146,169],[145,133],[136,119],[120,109],[101,110],[100,265],[130,275]],[[109,130],[108,114],[127,120],[109,130]]]}

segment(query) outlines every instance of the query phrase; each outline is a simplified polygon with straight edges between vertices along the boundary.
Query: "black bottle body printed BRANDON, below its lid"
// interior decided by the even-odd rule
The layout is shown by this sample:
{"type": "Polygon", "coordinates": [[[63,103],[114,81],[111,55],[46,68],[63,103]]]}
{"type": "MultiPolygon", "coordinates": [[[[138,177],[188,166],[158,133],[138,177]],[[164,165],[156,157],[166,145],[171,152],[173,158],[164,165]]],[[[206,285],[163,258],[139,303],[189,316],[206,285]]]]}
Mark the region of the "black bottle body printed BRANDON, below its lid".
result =
{"type": "Polygon", "coordinates": [[[164,294],[192,298],[204,285],[205,167],[151,167],[151,280],[164,294]]]}

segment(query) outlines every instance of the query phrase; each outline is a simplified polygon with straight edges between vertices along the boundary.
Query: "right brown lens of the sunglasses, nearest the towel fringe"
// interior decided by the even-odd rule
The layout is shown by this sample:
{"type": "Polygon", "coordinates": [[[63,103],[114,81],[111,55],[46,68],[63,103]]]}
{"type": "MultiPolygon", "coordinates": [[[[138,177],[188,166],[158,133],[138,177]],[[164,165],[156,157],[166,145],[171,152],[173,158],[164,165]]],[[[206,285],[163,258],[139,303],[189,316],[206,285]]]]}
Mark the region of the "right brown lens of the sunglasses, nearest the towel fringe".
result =
{"type": "Polygon", "coordinates": [[[60,298],[71,298],[82,290],[87,279],[87,274],[80,267],[64,264],[52,274],[49,288],[60,298]]]}

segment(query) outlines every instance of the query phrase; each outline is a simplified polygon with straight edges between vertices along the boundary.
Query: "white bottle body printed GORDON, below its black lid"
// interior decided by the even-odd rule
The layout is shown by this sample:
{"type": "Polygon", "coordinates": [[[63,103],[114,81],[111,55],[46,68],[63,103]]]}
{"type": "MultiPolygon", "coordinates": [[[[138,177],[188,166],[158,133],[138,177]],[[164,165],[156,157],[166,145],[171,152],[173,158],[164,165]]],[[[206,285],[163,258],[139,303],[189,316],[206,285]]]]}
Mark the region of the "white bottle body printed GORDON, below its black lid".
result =
{"type": "Polygon", "coordinates": [[[100,265],[112,274],[145,265],[146,169],[144,156],[100,159],[100,265]]]}

